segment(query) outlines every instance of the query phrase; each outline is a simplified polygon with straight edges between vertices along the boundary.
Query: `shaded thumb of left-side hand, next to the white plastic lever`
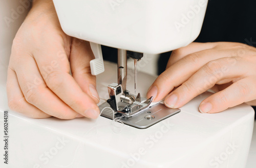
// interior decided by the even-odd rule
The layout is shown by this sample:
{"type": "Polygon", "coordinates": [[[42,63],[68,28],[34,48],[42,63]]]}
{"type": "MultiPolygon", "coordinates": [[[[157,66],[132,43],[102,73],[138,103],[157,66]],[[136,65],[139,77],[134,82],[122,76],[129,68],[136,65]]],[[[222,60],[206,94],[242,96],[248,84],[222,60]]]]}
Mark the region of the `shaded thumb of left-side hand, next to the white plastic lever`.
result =
{"type": "Polygon", "coordinates": [[[83,92],[98,103],[100,101],[96,90],[96,76],[91,74],[90,61],[94,59],[90,43],[75,39],[72,43],[70,65],[72,76],[83,92]]]}

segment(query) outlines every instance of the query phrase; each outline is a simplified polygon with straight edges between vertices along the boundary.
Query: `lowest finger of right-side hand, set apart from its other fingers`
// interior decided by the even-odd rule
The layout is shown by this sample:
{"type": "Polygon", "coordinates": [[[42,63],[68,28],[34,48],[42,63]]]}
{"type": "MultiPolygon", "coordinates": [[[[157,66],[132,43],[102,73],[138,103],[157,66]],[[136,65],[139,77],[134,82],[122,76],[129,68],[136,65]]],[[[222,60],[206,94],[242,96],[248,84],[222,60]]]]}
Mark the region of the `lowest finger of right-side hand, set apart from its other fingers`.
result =
{"type": "Polygon", "coordinates": [[[200,112],[218,113],[229,107],[256,99],[255,83],[255,77],[246,77],[234,82],[223,91],[203,100],[199,107],[200,112]]]}

